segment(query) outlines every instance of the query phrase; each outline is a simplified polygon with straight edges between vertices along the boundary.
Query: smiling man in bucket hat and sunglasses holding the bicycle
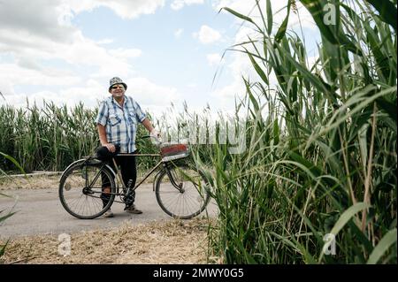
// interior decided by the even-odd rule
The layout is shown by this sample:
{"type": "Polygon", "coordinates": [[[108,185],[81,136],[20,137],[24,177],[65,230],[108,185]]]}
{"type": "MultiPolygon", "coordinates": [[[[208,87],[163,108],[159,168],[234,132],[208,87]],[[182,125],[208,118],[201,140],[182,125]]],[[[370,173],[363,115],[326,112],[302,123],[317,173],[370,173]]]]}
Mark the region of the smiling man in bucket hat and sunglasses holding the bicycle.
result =
{"type": "MultiPolygon", "coordinates": [[[[97,155],[106,156],[107,153],[134,153],[135,136],[137,133],[138,122],[149,131],[152,137],[160,137],[160,133],[153,128],[141,107],[130,96],[125,95],[127,85],[119,77],[110,80],[109,93],[111,96],[106,98],[100,105],[98,116],[96,117],[96,126],[102,147],[97,150],[97,155]]],[[[116,163],[120,166],[123,182],[127,186],[135,186],[137,169],[135,165],[135,156],[117,156],[116,163]]],[[[113,164],[111,162],[111,166],[113,164]]],[[[103,206],[106,205],[111,193],[109,183],[103,183],[103,206]]],[[[135,193],[132,194],[133,201],[131,205],[126,205],[125,210],[134,214],[141,214],[142,211],[136,209],[134,205],[135,193]]],[[[113,217],[111,209],[107,210],[104,217],[113,217]]]]}

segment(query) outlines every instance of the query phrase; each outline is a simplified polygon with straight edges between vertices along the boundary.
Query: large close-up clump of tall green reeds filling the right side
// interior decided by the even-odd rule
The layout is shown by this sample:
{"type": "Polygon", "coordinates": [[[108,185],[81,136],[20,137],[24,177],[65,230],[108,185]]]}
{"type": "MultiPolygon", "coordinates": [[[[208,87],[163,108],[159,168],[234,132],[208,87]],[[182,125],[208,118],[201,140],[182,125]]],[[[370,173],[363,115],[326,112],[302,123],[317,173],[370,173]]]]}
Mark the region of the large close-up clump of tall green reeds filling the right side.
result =
{"type": "Polygon", "coordinates": [[[294,1],[276,34],[271,1],[256,4],[257,21],[225,8],[256,30],[233,49],[259,80],[242,81],[248,149],[231,155],[216,145],[211,169],[195,154],[220,212],[211,255],[224,263],[396,263],[396,2],[332,1],[335,26],[323,21],[326,1],[301,2],[322,37],[313,65],[303,38],[287,31],[294,1]]]}

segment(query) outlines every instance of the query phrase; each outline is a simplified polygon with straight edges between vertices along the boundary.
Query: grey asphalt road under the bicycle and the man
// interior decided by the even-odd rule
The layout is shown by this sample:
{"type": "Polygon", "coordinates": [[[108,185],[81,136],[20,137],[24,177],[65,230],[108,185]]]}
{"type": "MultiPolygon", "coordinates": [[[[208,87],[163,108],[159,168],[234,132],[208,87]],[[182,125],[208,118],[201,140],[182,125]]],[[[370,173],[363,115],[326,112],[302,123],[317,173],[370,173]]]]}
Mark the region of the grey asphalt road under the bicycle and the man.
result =
{"type": "MultiPolygon", "coordinates": [[[[126,213],[124,205],[113,203],[112,211],[115,217],[97,217],[95,219],[79,219],[66,212],[58,199],[57,189],[15,189],[0,191],[14,198],[0,196],[0,210],[4,210],[0,217],[10,210],[16,211],[0,223],[0,238],[20,237],[36,234],[74,233],[85,230],[105,229],[128,222],[132,225],[149,223],[152,221],[172,220],[157,204],[152,184],[144,184],[136,190],[135,204],[142,214],[126,213]],[[17,199],[15,199],[17,197],[17,199]]],[[[217,208],[209,203],[208,212],[213,217],[217,208]]],[[[205,216],[203,211],[201,216],[205,216]]]]}

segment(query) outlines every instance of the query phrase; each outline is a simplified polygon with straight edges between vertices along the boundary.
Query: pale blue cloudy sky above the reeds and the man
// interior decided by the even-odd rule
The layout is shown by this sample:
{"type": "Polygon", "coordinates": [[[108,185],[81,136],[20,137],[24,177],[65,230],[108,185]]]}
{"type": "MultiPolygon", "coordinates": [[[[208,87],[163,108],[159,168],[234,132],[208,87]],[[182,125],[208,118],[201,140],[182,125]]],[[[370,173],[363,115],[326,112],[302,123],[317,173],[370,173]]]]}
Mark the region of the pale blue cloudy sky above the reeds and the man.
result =
{"type": "MultiPolygon", "coordinates": [[[[287,0],[272,0],[274,28],[287,0]]],[[[264,1],[260,2],[262,7],[264,1]]],[[[0,0],[1,104],[42,100],[88,108],[109,96],[118,76],[142,109],[160,116],[185,102],[192,111],[233,111],[247,56],[226,51],[252,28],[220,11],[258,18],[255,0],[0,0]]],[[[298,3],[303,35],[315,56],[316,28],[298,3]]],[[[297,15],[289,28],[301,32],[297,15]]]]}

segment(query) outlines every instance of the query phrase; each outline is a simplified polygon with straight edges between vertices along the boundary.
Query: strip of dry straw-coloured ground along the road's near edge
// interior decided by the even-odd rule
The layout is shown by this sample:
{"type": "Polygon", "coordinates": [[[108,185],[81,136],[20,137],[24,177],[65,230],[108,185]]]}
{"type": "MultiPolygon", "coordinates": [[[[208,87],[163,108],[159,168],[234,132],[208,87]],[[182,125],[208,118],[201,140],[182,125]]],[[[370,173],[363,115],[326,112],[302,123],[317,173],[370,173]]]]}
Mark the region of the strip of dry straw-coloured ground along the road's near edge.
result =
{"type": "Polygon", "coordinates": [[[206,219],[173,220],[75,233],[65,256],[56,236],[18,238],[9,241],[0,263],[208,263],[208,225],[206,219]]]}

